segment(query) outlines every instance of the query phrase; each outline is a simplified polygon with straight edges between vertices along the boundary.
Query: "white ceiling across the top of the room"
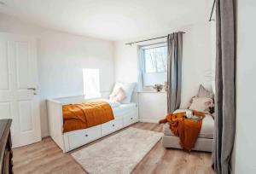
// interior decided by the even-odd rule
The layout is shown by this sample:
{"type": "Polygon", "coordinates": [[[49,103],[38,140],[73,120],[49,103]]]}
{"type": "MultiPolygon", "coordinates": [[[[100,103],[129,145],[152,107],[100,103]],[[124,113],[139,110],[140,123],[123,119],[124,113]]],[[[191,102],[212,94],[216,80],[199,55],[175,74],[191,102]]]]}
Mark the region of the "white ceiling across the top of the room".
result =
{"type": "Polygon", "coordinates": [[[143,38],[206,22],[210,0],[0,0],[3,14],[108,40],[143,38]]]}

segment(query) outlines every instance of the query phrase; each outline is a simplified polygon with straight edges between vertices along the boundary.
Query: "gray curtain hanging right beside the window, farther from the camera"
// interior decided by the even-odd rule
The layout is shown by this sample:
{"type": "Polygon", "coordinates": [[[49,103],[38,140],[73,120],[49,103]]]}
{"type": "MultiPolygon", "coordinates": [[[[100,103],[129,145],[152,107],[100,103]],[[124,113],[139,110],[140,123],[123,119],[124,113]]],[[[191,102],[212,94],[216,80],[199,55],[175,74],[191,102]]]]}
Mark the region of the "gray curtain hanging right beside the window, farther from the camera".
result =
{"type": "Polygon", "coordinates": [[[167,47],[167,108],[172,113],[181,101],[183,32],[169,34],[167,47]]]}

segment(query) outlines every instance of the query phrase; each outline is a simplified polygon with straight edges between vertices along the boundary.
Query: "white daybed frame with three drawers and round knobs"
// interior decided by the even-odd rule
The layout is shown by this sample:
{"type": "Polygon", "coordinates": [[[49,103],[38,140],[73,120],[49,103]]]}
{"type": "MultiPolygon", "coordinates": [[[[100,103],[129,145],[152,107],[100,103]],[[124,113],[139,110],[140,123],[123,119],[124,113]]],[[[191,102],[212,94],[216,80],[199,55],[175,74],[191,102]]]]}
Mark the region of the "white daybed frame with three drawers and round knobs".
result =
{"type": "MultiPolygon", "coordinates": [[[[103,94],[102,96],[108,96],[103,94]]],[[[107,136],[114,131],[118,131],[128,125],[138,122],[138,106],[114,115],[113,120],[102,125],[96,125],[84,130],[69,131],[63,133],[62,105],[70,103],[85,102],[84,96],[71,96],[47,100],[47,110],[49,119],[49,135],[55,143],[62,149],[63,153],[79,148],[84,144],[95,141],[102,136],[107,136]]],[[[137,92],[131,97],[131,102],[137,104],[137,92]]]]}

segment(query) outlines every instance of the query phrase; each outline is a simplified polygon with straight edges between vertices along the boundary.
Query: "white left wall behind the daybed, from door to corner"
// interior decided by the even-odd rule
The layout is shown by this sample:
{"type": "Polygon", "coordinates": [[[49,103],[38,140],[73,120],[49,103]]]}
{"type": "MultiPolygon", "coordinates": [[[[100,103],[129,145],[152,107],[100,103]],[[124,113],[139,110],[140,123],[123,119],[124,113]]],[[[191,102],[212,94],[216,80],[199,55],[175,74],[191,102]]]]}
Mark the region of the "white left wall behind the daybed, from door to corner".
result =
{"type": "Polygon", "coordinates": [[[99,68],[101,90],[111,90],[114,79],[112,42],[33,26],[5,14],[0,14],[0,32],[37,38],[43,136],[49,135],[45,99],[83,95],[84,67],[99,68]]]}

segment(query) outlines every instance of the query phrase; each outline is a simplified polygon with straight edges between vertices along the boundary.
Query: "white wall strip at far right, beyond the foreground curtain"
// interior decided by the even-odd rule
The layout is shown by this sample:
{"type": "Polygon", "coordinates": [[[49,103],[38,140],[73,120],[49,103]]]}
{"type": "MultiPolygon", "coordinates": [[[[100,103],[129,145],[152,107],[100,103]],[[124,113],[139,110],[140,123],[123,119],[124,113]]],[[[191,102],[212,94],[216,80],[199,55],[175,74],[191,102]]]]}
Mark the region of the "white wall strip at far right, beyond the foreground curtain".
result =
{"type": "Polygon", "coordinates": [[[235,173],[256,173],[256,1],[237,1],[236,167],[235,173]]]}

